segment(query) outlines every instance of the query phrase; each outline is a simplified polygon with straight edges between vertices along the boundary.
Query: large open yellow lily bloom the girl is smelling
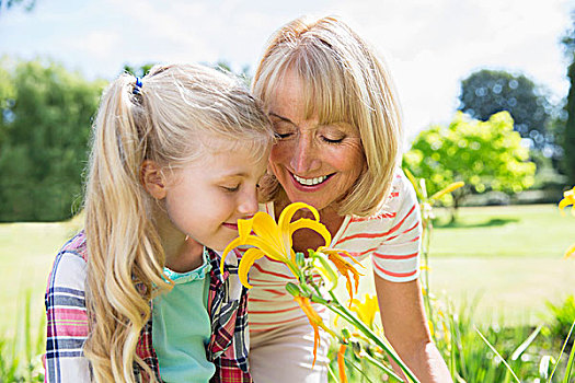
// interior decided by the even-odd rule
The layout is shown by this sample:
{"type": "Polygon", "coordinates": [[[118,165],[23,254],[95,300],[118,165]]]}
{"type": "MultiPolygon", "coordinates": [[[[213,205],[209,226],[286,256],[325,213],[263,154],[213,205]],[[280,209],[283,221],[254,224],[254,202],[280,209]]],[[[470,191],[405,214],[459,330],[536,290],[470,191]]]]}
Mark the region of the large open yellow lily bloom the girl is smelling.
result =
{"type": "Polygon", "coordinates": [[[254,217],[248,220],[238,220],[239,236],[230,242],[223,249],[221,257],[220,269],[223,272],[223,262],[228,253],[234,247],[242,245],[253,246],[249,248],[238,268],[238,275],[243,286],[252,288],[248,283],[248,271],[255,260],[264,255],[286,264],[294,276],[298,276],[298,267],[296,265],[296,253],[291,248],[291,235],[296,230],[311,229],[319,233],[325,240],[325,245],[332,242],[332,235],[327,229],[320,223],[320,214],[312,206],[303,202],[294,202],[287,206],[281,214],[279,214],[278,223],[274,219],[263,212],[258,211],[254,217]],[[302,218],[291,222],[291,218],[299,209],[308,209],[313,214],[314,219],[302,218]],[[251,233],[254,234],[251,234],[251,233]]]}

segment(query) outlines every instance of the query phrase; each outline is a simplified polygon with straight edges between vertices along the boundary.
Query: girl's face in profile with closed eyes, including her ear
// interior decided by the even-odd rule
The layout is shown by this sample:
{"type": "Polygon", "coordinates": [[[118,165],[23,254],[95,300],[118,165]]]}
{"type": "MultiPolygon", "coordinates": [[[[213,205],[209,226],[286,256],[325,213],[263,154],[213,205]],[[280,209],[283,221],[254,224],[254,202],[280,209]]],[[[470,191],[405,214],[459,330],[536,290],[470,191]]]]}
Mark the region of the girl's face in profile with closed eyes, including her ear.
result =
{"type": "Polygon", "coordinates": [[[257,183],[266,165],[267,153],[255,160],[249,149],[238,147],[174,171],[164,199],[174,229],[222,251],[238,236],[238,220],[257,212],[257,183]]]}

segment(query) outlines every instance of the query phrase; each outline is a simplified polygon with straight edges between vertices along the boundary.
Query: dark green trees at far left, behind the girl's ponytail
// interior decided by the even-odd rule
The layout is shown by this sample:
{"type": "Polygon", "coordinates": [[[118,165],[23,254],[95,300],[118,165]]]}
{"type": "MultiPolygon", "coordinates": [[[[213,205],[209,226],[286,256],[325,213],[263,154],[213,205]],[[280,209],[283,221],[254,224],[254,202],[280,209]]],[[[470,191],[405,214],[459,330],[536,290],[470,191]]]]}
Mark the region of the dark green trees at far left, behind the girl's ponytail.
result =
{"type": "Polygon", "coordinates": [[[104,83],[39,60],[4,60],[0,79],[0,221],[67,219],[104,83]]]}

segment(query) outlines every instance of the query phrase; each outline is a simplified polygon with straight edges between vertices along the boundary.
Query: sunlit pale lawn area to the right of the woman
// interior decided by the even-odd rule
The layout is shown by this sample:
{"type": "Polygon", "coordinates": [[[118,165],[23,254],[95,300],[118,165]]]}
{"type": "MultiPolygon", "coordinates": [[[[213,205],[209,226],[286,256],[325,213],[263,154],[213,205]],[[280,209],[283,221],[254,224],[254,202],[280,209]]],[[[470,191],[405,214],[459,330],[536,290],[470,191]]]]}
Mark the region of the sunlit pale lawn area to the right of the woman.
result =
{"type": "Polygon", "coordinates": [[[575,242],[575,218],[555,205],[464,208],[457,224],[440,222],[430,245],[432,289],[456,302],[480,297],[479,317],[538,324],[545,301],[575,294],[575,259],[563,258],[575,242]]]}

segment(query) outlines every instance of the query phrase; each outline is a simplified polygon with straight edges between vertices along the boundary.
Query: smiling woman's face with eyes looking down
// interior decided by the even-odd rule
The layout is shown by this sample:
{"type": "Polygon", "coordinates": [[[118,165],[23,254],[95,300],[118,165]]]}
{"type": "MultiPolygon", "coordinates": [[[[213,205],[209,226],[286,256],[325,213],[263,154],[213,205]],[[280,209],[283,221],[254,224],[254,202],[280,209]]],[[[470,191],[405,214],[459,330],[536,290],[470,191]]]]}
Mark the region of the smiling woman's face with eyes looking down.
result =
{"type": "Polygon", "coordinates": [[[289,201],[318,210],[335,208],[366,166],[359,131],[346,123],[320,125],[317,116],[306,119],[301,94],[300,81],[287,73],[269,104],[279,136],[269,164],[289,201]]]}

